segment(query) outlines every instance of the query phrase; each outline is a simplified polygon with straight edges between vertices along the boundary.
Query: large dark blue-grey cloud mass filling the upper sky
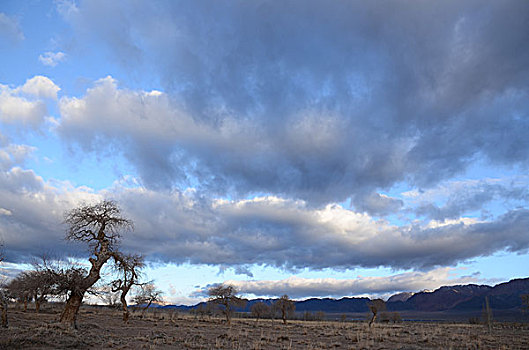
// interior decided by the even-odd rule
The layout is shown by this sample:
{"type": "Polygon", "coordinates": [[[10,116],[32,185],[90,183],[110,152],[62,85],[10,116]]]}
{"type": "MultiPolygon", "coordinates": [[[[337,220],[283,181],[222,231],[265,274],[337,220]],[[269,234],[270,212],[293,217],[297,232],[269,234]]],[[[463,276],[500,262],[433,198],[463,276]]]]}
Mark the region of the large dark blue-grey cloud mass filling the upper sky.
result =
{"type": "Polygon", "coordinates": [[[185,114],[209,130],[142,138],[123,128],[126,109],[120,133],[63,122],[86,149],[110,137],[149,188],[324,204],[428,187],[477,159],[527,166],[526,2],[87,1],[63,12],[81,38],[158,76],[178,111],[160,127],[185,133],[185,114]]]}

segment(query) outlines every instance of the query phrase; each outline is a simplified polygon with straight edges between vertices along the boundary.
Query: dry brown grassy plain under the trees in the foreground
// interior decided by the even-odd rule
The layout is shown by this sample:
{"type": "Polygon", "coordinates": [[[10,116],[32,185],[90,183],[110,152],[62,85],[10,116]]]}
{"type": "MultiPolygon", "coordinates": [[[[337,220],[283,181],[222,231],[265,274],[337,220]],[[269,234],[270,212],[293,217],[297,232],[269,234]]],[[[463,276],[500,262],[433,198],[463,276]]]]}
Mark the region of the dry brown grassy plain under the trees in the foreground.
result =
{"type": "Polygon", "coordinates": [[[56,323],[59,310],[35,315],[10,310],[10,327],[0,329],[1,349],[527,349],[529,325],[410,322],[304,322],[195,319],[173,311],[133,314],[129,324],[117,310],[83,307],[79,329],[56,323]]]}

